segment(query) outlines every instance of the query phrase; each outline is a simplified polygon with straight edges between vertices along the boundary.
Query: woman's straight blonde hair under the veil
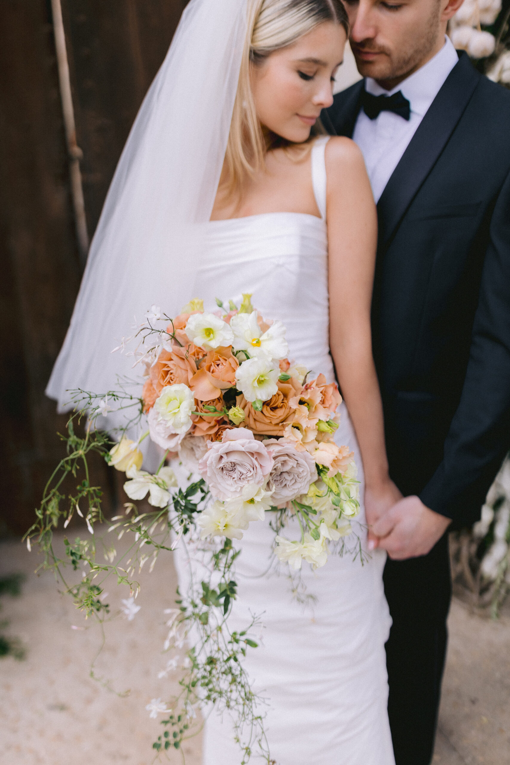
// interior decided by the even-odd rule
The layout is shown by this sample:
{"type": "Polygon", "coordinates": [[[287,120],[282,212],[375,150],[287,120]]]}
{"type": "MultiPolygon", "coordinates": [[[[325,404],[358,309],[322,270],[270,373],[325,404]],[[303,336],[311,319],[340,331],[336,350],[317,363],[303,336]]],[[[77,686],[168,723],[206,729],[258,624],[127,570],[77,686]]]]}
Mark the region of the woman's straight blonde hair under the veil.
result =
{"type": "MultiPolygon", "coordinates": [[[[324,21],[340,24],[349,34],[349,21],[341,0],[249,0],[245,48],[220,184],[222,196],[238,193],[246,177],[263,166],[270,148],[255,111],[251,67],[324,21]]],[[[312,130],[311,135],[317,132],[320,126],[312,130]]],[[[281,139],[279,145],[287,143],[281,139]]]]}

